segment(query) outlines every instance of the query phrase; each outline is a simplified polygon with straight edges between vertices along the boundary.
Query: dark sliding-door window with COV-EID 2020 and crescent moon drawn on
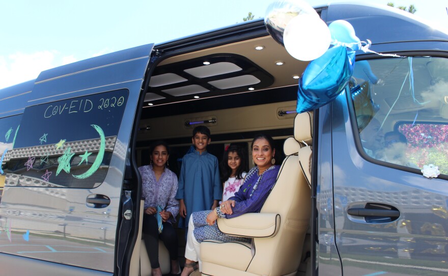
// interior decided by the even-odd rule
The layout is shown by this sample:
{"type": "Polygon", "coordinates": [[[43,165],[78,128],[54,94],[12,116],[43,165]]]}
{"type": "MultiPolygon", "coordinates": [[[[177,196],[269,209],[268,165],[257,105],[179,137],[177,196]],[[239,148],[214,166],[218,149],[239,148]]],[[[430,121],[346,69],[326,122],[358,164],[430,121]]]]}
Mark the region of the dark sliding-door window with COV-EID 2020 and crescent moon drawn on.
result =
{"type": "Polygon", "coordinates": [[[106,176],[127,90],[25,108],[4,165],[5,186],[92,188],[106,176]]]}

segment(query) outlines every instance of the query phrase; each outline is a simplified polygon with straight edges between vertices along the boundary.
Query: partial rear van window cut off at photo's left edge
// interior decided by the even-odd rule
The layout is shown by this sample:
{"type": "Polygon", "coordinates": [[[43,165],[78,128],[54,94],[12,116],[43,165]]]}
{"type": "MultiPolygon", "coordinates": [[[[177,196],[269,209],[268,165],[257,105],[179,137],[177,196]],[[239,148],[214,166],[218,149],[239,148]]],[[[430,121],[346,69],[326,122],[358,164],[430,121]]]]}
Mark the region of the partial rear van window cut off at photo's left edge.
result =
{"type": "Polygon", "coordinates": [[[16,115],[0,119],[0,200],[2,199],[3,187],[5,186],[5,158],[11,151],[15,135],[19,128],[22,115],[16,115]]]}

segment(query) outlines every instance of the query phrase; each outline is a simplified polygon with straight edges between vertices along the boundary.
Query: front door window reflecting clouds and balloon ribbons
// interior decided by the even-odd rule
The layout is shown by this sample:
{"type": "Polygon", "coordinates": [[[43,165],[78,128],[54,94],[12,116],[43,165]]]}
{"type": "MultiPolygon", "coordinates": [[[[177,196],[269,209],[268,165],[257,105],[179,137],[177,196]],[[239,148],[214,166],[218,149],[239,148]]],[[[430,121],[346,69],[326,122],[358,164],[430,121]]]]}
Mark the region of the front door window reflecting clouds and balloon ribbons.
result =
{"type": "MultiPolygon", "coordinates": [[[[448,59],[358,61],[350,80],[365,156],[448,175],[448,59]]],[[[399,167],[395,167],[399,168],[399,167]]]]}

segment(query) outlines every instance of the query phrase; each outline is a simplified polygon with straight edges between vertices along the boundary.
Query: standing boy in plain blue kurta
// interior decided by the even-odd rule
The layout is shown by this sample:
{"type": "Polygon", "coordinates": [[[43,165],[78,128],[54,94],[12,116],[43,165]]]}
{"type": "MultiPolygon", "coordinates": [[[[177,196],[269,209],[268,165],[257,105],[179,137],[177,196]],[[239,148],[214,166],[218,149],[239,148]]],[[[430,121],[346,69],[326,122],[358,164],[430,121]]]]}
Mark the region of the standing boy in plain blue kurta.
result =
{"type": "Polygon", "coordinates": [[[195,151],[183,157],[176,194],[181,216],[179,227],[185,227],[185,233],[192,212],[214,209],[222,197],[218,159],[207,152],[211,141],[208,127],[195,127],[191,141],[195,151]]]}

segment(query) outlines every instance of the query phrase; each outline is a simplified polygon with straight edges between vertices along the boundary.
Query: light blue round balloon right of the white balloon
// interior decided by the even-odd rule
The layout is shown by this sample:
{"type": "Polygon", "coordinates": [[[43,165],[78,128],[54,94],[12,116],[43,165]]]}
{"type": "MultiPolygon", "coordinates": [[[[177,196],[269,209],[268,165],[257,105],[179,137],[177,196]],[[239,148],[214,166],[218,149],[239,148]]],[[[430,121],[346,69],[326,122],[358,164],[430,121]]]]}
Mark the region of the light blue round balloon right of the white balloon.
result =
{"type": "Polygon", "coordinates": [[[355,34],[355,29],[352,24],[345,20],[335,20],[328,25],[330,29],[331,40],[334,45],[340,45],[350,47],[353,50],[358,49],[360,42],[359,38],[355,34]]]}

